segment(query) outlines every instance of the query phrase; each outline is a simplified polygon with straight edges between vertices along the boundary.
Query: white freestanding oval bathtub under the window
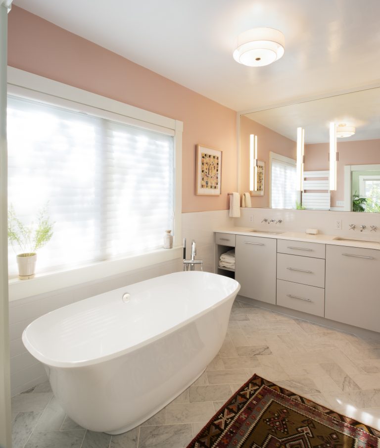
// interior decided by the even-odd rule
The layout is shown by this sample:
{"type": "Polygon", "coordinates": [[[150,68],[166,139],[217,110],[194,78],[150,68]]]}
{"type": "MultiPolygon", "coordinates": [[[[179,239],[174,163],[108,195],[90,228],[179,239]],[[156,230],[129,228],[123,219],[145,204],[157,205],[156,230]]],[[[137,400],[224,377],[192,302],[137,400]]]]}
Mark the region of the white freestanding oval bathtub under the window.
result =
{"type": "Polygon", "coordinates": [[[176,272],[56,309],[28,325],[22,340],[71,419],[121,434],[202,374],[221,348],[239,289],[220,275],[176,272]]]}

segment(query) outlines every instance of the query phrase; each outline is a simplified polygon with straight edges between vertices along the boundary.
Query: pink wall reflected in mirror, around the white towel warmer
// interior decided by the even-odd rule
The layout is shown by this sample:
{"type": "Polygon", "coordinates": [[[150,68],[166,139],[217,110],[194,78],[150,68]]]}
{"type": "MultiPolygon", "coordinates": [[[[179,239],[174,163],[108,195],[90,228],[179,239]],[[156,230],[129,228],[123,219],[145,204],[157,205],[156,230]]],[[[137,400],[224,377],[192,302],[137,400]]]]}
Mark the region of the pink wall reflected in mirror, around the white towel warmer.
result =
{"type": "MultiPolygon", "coordinates": [[[[338,141],[336,192],[331,192],[331,206],[336,207],[337,200],[344,200],[344,166],[380,163],[380,140],[338,141]]],[[[305,145],[305,171],[329,169],[329,144],[316,143],[305,145]]]]}

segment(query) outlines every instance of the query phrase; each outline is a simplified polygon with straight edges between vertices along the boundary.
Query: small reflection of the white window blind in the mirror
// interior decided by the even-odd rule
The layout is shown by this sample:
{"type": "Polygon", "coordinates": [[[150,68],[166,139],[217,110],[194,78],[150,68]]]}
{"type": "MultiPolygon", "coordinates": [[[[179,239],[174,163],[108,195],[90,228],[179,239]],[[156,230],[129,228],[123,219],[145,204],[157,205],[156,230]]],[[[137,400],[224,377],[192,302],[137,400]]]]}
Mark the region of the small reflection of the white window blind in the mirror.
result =
{"type": "Polygon", "coordinates": [[[272,159],[271,207],[296,208],[296,166],[272,159]]]}

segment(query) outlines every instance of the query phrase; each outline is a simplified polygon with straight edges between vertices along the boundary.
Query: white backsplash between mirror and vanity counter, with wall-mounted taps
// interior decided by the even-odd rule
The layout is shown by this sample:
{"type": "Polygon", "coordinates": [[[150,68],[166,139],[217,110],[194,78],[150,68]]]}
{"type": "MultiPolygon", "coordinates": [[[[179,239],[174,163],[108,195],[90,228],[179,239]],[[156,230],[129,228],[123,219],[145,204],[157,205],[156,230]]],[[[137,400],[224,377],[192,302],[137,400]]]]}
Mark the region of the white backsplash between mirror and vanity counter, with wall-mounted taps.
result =
{"type": "Polygon", "coordinates": [[[349,236],[351,238],[380,239],[380,213],[355,213],[349,211],[288,210],[276,208],[241,208],[240,218],[234,219],[235,226],[252,227],[254,229],[275,229],[292,232],[305,232],[306,229],[318,229],[325,235],[349,236]],[[253,221],[251,221],[253,217],[253,221]],[[281,224],[267,224],[264,218],[282,219],[281,224]],[[341,222],[341,229],[336,222],[341,222]],[[355,224],[356,230],[349,230],[349,224],[355,224]],[[360,231],[360,226],[367,228],[360,231]],[[377,232],[370,226],[377,226],[377,232]]]}

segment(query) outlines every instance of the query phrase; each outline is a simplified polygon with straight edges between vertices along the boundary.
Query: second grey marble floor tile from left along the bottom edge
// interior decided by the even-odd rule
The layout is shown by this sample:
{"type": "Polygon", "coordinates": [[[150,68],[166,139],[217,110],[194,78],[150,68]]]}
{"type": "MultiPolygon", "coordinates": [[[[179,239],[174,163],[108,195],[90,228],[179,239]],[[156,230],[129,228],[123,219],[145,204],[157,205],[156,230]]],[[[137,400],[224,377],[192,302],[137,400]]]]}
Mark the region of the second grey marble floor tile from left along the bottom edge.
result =
{"type": "Polygon", "coordinates": [[[25,448],[81,448],[85,430],[33,432],[25,448]]]}

